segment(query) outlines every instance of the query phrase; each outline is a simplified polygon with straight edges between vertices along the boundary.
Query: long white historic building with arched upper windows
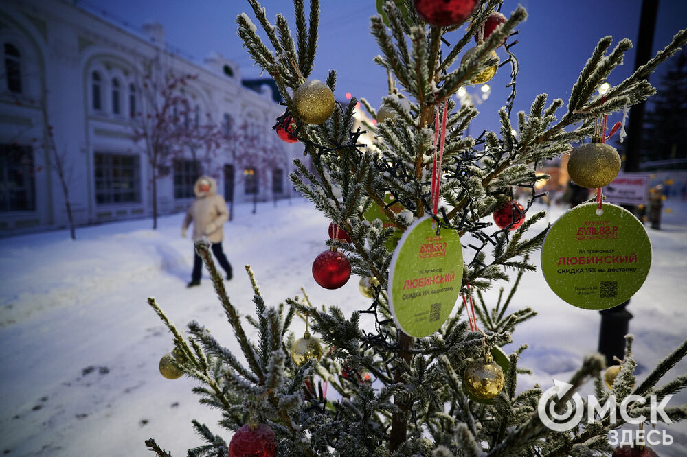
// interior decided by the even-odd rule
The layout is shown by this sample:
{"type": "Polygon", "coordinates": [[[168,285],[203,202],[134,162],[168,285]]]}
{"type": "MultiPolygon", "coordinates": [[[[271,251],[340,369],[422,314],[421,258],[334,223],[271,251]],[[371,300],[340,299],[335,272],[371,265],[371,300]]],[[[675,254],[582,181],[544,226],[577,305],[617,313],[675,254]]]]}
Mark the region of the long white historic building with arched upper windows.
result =
{"type": "MultiPolygon", "coordinates": [[[[199,65],[170,52],[161,25],[139,34],[66,0],[3,0],[0,46],[0,235],[67,225],[60,179],[43,148],[46,125],[65,159],[76,224],[151,214],[152,171],[132,133],[144,103],[142,62],[156,56],[175,73],[197,76],[185,89],[196,117],[210,115],[229,129],[247,125],[261,145],[283,152],[283,164],[255,170],[218,150],[218,193],[227,201],[233,194],[234,202],[293,193],[287,176],[302,146],[283,143],[271,130],[283,107],[270,87],[247,89],[238,67],[221,56],[199,65]]],[[[160,214],[190,204],[192,165],[176,159],[157,180],[160,214]]]]}

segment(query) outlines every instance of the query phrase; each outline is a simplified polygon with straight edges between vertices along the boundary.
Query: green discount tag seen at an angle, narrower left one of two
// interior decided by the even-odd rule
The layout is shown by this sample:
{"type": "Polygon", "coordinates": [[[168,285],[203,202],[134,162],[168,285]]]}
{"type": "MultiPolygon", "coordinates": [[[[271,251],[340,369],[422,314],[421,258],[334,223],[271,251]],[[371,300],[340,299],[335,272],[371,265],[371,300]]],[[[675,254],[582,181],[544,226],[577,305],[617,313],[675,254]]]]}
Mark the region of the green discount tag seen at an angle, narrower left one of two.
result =
{"type": "Polygon", "coordinates": [[[449,318],[463,277],[463,253],[455,230],[440,235],[432,218],[403,233],[389,270],[389,305],[396,325],[416,338],[431,335],[449,318]]]}

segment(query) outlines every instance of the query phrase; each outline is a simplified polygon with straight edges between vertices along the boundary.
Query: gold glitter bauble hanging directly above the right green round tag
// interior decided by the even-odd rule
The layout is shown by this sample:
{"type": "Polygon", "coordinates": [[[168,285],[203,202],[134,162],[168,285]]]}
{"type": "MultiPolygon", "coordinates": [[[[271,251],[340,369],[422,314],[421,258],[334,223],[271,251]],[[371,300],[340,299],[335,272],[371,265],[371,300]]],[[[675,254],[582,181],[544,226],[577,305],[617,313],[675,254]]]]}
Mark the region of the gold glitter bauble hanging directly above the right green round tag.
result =
{"type": "Polygon", "coordinates": [[[575,148],[567,161],[567,174],[578,186],[596,189],[609,185],[620,172],[620,156],[613,146],[595,138],[575,148]]]}

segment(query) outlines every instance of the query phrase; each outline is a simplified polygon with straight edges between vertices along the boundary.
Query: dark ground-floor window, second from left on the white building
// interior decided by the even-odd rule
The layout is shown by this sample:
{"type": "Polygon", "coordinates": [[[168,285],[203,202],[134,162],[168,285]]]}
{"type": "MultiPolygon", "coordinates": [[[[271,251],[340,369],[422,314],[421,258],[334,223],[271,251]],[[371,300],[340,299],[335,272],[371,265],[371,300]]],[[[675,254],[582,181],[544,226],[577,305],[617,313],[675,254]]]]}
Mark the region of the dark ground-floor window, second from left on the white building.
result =
{"type": "Polygon", "coordinates": [[[95,153],[95,202],[98,204],[141,201],[141,170],[138,156],[95,153]]]}

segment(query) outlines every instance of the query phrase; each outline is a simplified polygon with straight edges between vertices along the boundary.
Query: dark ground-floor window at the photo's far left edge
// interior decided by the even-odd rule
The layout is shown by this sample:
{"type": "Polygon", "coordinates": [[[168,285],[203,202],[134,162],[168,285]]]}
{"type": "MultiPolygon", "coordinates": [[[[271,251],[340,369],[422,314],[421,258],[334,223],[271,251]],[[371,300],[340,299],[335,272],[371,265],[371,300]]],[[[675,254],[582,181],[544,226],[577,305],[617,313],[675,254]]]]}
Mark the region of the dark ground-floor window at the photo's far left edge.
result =
{"type": "Polygon", "coordinates": [[[30,146],[0,145],[0,211],[34,209],[34,159],[30,146]]]}

